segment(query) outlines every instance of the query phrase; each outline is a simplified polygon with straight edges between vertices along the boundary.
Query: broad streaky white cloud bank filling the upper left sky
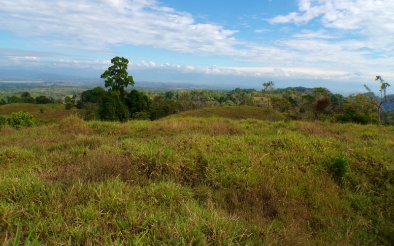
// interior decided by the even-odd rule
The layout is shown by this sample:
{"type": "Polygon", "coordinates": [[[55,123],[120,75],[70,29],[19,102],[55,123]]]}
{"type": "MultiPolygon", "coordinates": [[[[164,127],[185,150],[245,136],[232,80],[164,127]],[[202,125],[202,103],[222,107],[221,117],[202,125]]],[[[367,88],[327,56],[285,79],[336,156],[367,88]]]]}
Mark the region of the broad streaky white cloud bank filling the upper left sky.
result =
{"type": "Polygon", "coordinates": [[[233,52],[235,30],[196,23],[157,0],[2,0],[0,30],[55,47],[149,45],[185,53],[233,52]]]}

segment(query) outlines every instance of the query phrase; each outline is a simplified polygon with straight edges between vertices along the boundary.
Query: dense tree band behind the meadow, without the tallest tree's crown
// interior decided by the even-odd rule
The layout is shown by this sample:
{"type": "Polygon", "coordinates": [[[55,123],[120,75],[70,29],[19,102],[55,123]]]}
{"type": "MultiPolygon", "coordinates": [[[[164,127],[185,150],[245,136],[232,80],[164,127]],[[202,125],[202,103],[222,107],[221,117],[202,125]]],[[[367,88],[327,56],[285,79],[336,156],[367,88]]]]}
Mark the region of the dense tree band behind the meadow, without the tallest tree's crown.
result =
{"type": "MultiPolygon", "coordinates": [[[[107,92],[101,87],[82,92],[76,107],[87,110],[87,120],[157,120],[167,115],[205,107],[248,105],[267,107],[293,120],[378,123],[377,106],[368,95],[347,97],[326,88],[170,90],[107,92]],[[298,89],[298,90],[297,90],[298,89]]],[[[383,122],[393,122],[393,113],[382,111],[383,122]]]]}

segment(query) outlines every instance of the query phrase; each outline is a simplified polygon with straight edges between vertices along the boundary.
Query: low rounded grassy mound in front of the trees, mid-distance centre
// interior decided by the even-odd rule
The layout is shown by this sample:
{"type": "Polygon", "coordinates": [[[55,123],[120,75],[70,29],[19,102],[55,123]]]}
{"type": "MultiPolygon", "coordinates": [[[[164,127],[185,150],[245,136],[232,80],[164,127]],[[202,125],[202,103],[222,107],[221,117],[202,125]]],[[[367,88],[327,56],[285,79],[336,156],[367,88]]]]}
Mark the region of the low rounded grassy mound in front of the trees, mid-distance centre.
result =
{"type": "Polygon", "coordinates": [[[176,115],[169,116],[168,118],[184,118],[184,117],[219,117],[229,118],[234,120],[240,119],[257,119],[264,121],[283,121],[285,117],[273,110],[268,108],[259,108],[252,106],[222,106],[222,107],[210,107],[203,108],[193,111],[181,112],[176,115]]]}

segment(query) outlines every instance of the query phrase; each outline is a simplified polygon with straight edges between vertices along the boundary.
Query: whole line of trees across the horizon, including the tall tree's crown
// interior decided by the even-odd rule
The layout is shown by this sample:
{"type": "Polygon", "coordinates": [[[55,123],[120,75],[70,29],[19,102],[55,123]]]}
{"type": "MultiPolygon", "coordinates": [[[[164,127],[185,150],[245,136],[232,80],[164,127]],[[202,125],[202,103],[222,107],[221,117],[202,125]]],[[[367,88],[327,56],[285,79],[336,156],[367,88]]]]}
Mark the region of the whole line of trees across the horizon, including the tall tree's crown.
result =
{"type": "MultiPolygon", "coordinates": [[[[0,104],[29,103],[65,103],[66,109],[73,107],[85,109],[86,120],[121,121],[157,120],[182,111],[204,107],[247,105],[267,107],[283,113],[293,120],[322,120],[340,123],[393,123],[393,113],[385,111],[384,105],[394,102],[386,95],[390,85],[380,76],[375,81],[380,83],[380,97],[364,85],[366,93],[352,93],[347,97],[331,93],[327,88],[289,87],[275,89],[273,81],[263,83],[263,90],[240,89],[224,90],[168,90],[127,91],[134,85],[132,76],[127,73],[129,61],[115,57],[113,64],[101,78],[105,79],[106,91],[101,87],[74,94],[72,97],[53,99],[46,96],[33,98],[29,92],[20,97],[11,96],[0,104]]],[[[388,108],[388,107],[386,107],[388,108]]]]}

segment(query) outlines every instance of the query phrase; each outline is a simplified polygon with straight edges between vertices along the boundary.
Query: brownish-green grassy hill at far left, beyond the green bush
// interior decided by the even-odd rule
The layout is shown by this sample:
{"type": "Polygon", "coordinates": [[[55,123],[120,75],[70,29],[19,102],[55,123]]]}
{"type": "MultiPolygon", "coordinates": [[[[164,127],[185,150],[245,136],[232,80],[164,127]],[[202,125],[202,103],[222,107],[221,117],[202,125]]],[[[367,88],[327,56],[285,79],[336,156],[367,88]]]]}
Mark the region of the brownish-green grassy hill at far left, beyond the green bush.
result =
{"type": "Polygon", "coordinates": [[[32,104],[32,103],[11,103],[0,106],[0,115],[9,116],[13,112],[25,112],[33,115],[36,120],[60,120],[71,114],[81,117],[85,115],[85,110],[72,109],[66,110],[64,104],[32,104]],[[40,112],[42,108],[43,113],[40,112]]]}

